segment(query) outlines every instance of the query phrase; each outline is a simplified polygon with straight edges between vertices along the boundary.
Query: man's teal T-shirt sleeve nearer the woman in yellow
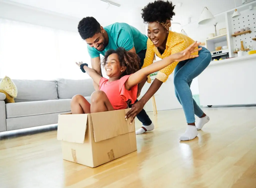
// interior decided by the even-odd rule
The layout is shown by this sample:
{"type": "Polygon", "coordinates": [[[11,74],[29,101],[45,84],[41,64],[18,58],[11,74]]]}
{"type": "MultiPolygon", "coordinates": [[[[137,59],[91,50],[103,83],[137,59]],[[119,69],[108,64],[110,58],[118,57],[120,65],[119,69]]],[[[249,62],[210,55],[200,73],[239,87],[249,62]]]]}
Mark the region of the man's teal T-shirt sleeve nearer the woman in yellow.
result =
{"type": "Polygon", "coordinates": [[[117,46],[123,47],[126,51],[129,51],[133,48],[134,43],[131,31],[127,31],[125,29],[120,30],[117,39],[117,46]]]}

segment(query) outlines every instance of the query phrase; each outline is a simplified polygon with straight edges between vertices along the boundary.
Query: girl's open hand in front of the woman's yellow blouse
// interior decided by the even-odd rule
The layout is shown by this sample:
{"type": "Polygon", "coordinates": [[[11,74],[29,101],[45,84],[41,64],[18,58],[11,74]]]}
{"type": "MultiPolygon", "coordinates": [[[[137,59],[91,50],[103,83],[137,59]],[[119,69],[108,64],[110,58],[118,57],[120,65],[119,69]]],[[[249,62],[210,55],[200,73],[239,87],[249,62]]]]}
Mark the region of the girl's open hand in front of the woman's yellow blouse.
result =
{"type": "Polygon", "coordinates": [[[175,61],[179,62],[179,61],[184,61],[184,60],[187,60],[187,59],[192,59],[192,58],[195,58],[195,57],[198,57],[198,55],[191,55],[195,52],[198,52],[200,51],[202,48],[197,48],[195,49],[196,47],[198,47],[201,43],[197,43],[197,41],[195,41],[193,44],[191,44],[189,47],[187,47],[186,49],[184,49],[183,51],[181,52],[178,52],[178,53],[175,53],[175,54],[172,54],[172,57],[175,59],[175,61]]]}

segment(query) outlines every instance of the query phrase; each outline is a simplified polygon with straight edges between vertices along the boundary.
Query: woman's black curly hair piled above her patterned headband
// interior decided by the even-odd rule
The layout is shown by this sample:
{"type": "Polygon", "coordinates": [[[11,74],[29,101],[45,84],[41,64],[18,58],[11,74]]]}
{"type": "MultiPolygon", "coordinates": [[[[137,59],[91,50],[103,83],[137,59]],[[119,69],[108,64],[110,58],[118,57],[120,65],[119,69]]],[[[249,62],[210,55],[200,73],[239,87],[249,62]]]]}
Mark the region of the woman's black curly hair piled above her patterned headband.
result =
{"type": "Polygon", "coordinates": [[[154,3],[148,3],[142,9],[142,18],[145,23],[158,21],[159,23],[165,22],[167,19],[172,20],[175,15],[172,2],[157,0],[154,3]]]}

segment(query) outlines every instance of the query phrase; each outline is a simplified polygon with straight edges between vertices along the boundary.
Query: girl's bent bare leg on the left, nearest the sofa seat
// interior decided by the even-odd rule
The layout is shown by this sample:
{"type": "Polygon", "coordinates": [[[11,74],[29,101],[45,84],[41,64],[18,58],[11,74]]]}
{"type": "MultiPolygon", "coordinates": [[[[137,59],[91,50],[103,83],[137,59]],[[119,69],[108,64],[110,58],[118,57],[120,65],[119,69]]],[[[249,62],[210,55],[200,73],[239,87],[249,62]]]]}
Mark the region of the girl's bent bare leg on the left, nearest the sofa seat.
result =
{"type": "Polygon", "coordinates": [[[89,114],[90,107],[90,103],[82,95],[75,95],[71,99],[72,114],[89,114]]]}

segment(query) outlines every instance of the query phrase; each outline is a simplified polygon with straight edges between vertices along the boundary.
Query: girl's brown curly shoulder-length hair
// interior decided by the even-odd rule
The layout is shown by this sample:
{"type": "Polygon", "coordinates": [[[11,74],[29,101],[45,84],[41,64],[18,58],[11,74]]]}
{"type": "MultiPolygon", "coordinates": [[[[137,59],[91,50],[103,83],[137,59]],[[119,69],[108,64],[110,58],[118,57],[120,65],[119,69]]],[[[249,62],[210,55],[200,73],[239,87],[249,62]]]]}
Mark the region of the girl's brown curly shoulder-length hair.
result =
{"type": "Polygon", "coordinates": [[[110,49],[105,52],[105,56],[102,60],[103,67],[107,64],[107,59],[111,54],[117,54],[120,66],[126,67],[121,77],[133,74],[140,69],[140,57],[133,52],[127,52],[124,48],[121,47],[117,48],[116,50],[110,49]]]}

